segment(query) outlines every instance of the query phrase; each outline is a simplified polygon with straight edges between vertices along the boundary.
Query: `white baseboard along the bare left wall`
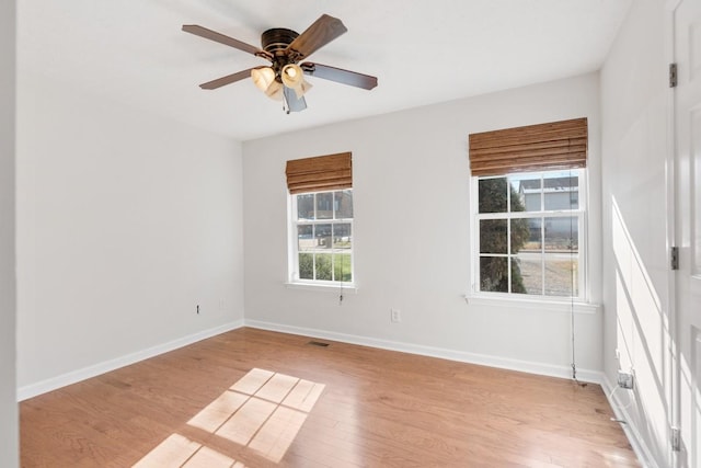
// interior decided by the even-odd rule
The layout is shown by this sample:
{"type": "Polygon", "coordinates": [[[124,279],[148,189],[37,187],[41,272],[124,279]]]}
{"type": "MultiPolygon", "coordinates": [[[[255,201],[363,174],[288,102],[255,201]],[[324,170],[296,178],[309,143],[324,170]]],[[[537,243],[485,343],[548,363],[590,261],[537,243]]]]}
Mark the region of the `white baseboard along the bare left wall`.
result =
{"type": "Polygon", "coordinates": [[[196,343],[207,338],[211,338],[227,331],[235,330],[241,327],[243,327],[243,320],[237,320],[208,330],[203,330],[187,336],[179,338],[176,340],[169,341],[168,343],[162,343],[156,346],[148,347],[146,350],[137,351],[136,353],[130,353],[125,356],[51,377],[36,384],[19,387],[18,401],[23,401],[42,393],[46,393],[47,391],[56,390],[58,388],[66,387],[67,385],[76,384],[78,381],[99,376],[110,370],[115,370],[119,367],[128,366],[129,364],[138,363],[139,361],[148,359],[149,357],[158,356],[159,354],[168,353],[169,351],[177,350],[179,347],[187,346],[188,344],[196,343]]]}

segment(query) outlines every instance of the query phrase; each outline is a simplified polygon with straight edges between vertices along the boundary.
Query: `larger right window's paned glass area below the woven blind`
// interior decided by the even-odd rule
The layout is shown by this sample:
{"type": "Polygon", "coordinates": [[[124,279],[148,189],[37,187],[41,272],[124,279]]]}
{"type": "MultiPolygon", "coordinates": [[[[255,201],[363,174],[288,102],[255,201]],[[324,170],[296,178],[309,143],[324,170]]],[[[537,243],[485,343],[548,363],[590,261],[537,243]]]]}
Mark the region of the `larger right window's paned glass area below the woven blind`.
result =
{"type": "Polygon", "coordinates": [[[475,289],[582,298],[584,170],[475,180],[475,289]]]}

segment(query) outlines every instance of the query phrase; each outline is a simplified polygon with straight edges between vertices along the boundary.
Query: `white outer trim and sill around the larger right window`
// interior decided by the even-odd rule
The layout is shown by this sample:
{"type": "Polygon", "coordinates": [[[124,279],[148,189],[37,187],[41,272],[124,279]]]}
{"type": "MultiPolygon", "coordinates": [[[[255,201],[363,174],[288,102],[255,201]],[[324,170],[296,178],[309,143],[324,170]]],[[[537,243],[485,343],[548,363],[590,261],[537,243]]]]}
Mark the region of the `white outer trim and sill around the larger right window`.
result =
{"type": "MultiPolygon", "coordinates": [[[[587,169],[577,170],[579,174],[578,181],[578,201],[579,209],[575,212],[581,218],[581,226],[578,231],[578,246],[579,246],[579,296],[578,297],[562,297],[562,296],[542,296],[542,295],[525,295],[515,293],[496,293],[496,292],[482,292],[479,290],[480,281],[480,232],[479,232],[479,176],[470,176],[469,190],[470,190],[470,285],[469,292],[464,295],[466,303],[469,305],[494,305],[505,307],[525,307],[525,308],[541,308],[548,310],[562,310],[595,313],[600,309],[600,305],[590,303],[590,281],[589,281],[589,262],[588,262],[588,214],[589,214],[589,191],[588,191],[588,178],[587,169]],[[584,205],[583,205],[584,203],[584,205]],[[586,233],[586,236],[585,236],[586,233]]],[[[542,173],[549,171],[531,171],[533,173],[542,173]]],[[[507,176],[509,174],[501,175],[507,176]]],[[[497,176],[495,176],[497,178],[497,176]]],[[[519,216],[542,218],[543,212],[532,212],[530,216],[529,212],[519,212],[519,216]]],[[[562,214],[562,216],[572,216],[573,212],[570,210],[552,210],[548,214],[562,214]]],[[[494,218],[504,219],[510,218],[509,214],[494,214],[494,218]],[[505,216],[506,215],[506,216],[505,216]]],[[[491,214],[483,214],[482,218],[489,218],[491,214]]]]}

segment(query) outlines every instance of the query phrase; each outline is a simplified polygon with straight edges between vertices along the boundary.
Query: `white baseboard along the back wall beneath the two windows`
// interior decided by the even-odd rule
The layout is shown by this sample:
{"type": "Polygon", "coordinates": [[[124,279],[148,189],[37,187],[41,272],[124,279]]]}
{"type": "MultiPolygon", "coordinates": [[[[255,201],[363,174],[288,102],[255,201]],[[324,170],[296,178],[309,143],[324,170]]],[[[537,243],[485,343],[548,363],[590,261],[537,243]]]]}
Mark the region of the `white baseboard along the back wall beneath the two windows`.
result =
{"type": "MultiPolygon", "coordinates": [[[[508,370],[518,370],[529,374],[549,377],[572,378],[572,367],[556,366],[552,364],[535,363],[529,361],[513,359],[508,357],[490,356],[486,354],[468,353],[443,347],[424,346],[421,344],[402,343],[389,340],[379,340],[345,333],[336,333],[324,330],[308,329],[279,323],[271,323],[258,320],[244,319],[244,326],[262,330],[278,331],[283,333],[300,334],[310,338],[340,341],[363,346],[379,347],[382,350],[400,351],[403,353],[418,354],[422,356],[439,357],[443,359],[462,363],[479,364],[490,367],[498,367],[508,370]]],[[[598,370],[577,369],[577,380],[590,384],[601,384],[604,374],[598,370]]]]}

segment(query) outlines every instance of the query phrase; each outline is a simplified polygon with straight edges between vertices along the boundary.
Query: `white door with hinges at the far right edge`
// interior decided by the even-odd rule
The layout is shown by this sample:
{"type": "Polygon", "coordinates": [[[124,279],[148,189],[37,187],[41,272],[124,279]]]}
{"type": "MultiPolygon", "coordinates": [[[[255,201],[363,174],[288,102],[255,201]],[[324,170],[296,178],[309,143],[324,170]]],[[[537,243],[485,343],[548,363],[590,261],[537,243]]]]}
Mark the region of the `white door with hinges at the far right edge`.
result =
{"type": "Polygon", "coordinates": [[[681,0],[675,15],[676,352],[680,467],[701,467],[701,1],[681,0]]]}

